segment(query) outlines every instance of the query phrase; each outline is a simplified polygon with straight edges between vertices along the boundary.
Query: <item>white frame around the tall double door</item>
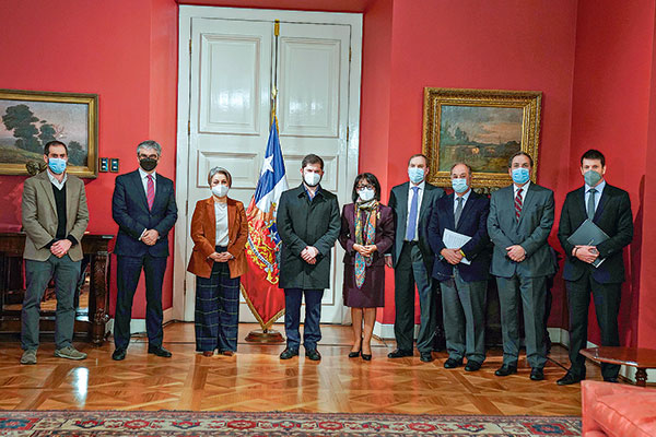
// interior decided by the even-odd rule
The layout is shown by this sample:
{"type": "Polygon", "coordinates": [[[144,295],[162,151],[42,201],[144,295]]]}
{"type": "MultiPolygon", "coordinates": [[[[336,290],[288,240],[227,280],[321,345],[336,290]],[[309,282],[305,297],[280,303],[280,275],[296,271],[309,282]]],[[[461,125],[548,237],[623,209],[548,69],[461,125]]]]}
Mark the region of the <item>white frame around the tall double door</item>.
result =
{"type": "MultiPolygon", "coordinates": [[[[176,141],[176,169],[175,169],[175,198],[178,204],[178,220],[175,224],[175,245],[173,262],[173,318],[176,320],[192,321],[192,315],[186,314],[186,272],[189,253],[185,241],[189,238],[189,204],[188,172],[189,168],[189,121],[190,121],[190,68],[191,68],[191,20],[192,19],[222,19],[222,20],[280,20],[282,23],[306,24],[345,24],[351,26],[351,61],[349,68],[349,118],[347,138],[347,161],[349,163],[347,180],[354,180],[358,175],[360,151],[360,93],[362,76],[362,14],[308,12],[308,11],[279,11],[271,9],[241,9],[218,7],[179,7],[178,31],[178,107],[177,107],[177,141],[176,141]],[[352,173],[352,174],[351,174],[352,173]]],[[[283,24],[284,25],[284,24],[283,24]]],[[[262,144],[265,147],[266,144],[262,144]]],[[[194,205],[191,205],[194,208],[194,205]]],[[[192,213],[192,211],[191,211],[192,213]]],[[[335,259],[332,262],[340,262],[335,259]]],[[[341,283],[333,279],[335,286],[341,283]]],[[[348,311],[342,315],[342,322],[350,319],[348,311]]]]}

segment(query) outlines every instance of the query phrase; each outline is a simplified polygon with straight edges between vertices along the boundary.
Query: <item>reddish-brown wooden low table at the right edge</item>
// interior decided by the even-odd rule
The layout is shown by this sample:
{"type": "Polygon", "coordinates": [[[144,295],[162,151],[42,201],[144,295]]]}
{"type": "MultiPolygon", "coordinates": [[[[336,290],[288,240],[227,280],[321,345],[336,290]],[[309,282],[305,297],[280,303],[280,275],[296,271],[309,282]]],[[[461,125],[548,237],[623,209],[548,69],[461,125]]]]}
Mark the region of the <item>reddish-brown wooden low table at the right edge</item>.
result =
{"type": "Polygon", "coordinates": [[[601,346],[582,349],[581,355],[598,363],[635,367],[635,385],[645,387],[647,369],[656,368],[656,350],[642,347],[601,346]]]}

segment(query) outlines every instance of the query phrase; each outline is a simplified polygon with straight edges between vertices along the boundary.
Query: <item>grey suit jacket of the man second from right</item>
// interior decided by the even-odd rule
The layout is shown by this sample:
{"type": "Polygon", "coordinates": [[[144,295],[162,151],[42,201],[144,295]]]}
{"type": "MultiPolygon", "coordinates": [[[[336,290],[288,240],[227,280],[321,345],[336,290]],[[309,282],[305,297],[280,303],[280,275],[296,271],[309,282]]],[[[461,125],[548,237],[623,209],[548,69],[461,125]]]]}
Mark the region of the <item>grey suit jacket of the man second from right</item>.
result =
{"type": "Polygon", "coordinates": [[[517,222],[513,185],[494,191],[488,216],[488,234],[494,244],[490,273],[502,277],[512,277],[515,273],[528,277],[554,274],[553,256],[547,243],[553,226],[553,191],[531,182],[524,194],[517,222]],[[524,261],[515,262],[506,256],[505,248],[513,245],[526,250],[524,261]]]}

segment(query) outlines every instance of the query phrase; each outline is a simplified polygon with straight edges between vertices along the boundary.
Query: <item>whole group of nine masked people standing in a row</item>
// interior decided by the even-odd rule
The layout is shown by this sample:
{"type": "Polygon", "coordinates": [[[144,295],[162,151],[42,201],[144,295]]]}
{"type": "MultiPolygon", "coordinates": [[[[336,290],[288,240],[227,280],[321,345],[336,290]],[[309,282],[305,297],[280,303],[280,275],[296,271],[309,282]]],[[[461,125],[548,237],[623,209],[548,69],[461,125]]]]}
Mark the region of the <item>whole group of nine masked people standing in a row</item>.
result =
{"type": "MultiPolygon", "coordinates": [[[[167,235],[177,220],[174,184],[156,174],[160,144],[137,147],[139,168],[116,178],[113,217],[119,226],[117,304],[113,359],[125,359],[130,340],[134,292],[145,276],[148,352],[171,357],[162,346],[162,283],[168,257],[167,235]]],[[[36,364],[38,314],[44,291],[55,277],[57,328],[55,355],[83,359],[72,346],[73,296],[80,276],[80,241],[89,223],[84,185],[66,174],[66,144],[46,144],[48,168],[25,181],[23,228],[26,233],[26,293],[23,304],[22,364],[36,364]]],[[[484,328],[489,275],[496,279],[501,306],[504,377],[517,371],[518,309],[524,314],[530,379],[544,378],[547,279],[555,273],[548,237],[554,222],[553,192],[530,181],[532,158],[518,152],[508,160],[513,184],[489,199],[471,188],[467,163],[450,168],[453,192],[426,181],[429,161],[422,154],[408,162],[408,181],[396,186],[388,205],[380,203],[380,184],[360,174],[351,200],[339,211],[337,197],[323,189],[324,162],[314,154],[301,165],[302,184],[282,193],[277,228],[282,240],[279,286],[285,295],[286,347],[281,359],[298,355],[321,359],[317,343],[321,297],[330,286],[330,253],[336,241],[344,249],[343,300],[351,308],[353,344],[349,357],[372,359],[371,339],[376,308],[385,306],[385,265],[395,276],[395,338],[389,358],[413,355],[415,290],[420,303],[417,350],[433,361],[433,340],[443,316],[448,358],[446,368],[467,359],[465,370],[479,370],[485,359],[484,328]],[[442,315],[437,314],[438,299],[442,315]],[[301,307],[305,299],[303,340],[301,307]]],[[[587,339],[587,310],[595,297],[602,345],[619,345],[618,314],[624,281],[622,249],[631,243],[633,222],[625,191],[607,185],[604,155],[590,150],[581,160],[585,184],[567,194],[558,237],[565,250],[563,277],[570,304],[572,366],[559,385],[585,378],[578,351],[587,339]],[[569,241],[589,218],[608,235],[599,245],[569,241]],[[598,263],[597,260],[604,260],[598,263]]],[[[191,218],[194,250],[188,271],[196,281],[196,349],[204,356],[231,356],[237,350],[239,276],[247,269],[247,217],[242,202],[227,193],[232,176],[225,168],[209,172],[211,197],[198,201],[191,218]]],[[[604,365],[602,375],[617,381],[619,366],[604,365]]]]}

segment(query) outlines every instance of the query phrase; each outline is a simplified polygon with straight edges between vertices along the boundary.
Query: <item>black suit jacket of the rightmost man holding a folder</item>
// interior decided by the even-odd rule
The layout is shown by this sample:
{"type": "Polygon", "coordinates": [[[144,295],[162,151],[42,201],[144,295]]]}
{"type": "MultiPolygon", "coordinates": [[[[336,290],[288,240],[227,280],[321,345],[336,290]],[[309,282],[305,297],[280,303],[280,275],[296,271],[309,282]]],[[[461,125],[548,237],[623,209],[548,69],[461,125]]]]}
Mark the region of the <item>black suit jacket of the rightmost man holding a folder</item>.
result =
{"type": "Polygon", "coordinates": [[[572,257],[574,246],[567,241],[570,235],[574,234],[586,218],[585,187],[581,187],[567,193],[558,229],[558,238],[565,250],[563,279],[576,281],[586,269],[589,269],[595,281],[601,284],[624,282],[622,251],[633,239],[633,216],[629,193],[608,182],[604,188],[593,222],[610,238],[597,245],[599,258],[606,258],[598,268],[572,257]]]}

